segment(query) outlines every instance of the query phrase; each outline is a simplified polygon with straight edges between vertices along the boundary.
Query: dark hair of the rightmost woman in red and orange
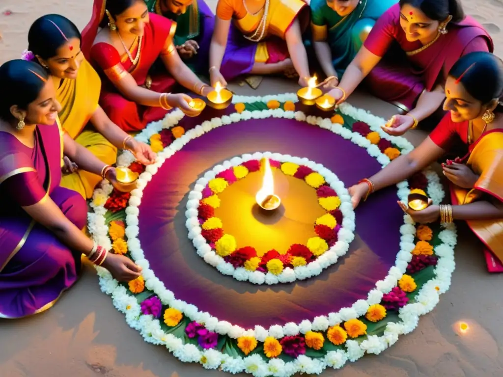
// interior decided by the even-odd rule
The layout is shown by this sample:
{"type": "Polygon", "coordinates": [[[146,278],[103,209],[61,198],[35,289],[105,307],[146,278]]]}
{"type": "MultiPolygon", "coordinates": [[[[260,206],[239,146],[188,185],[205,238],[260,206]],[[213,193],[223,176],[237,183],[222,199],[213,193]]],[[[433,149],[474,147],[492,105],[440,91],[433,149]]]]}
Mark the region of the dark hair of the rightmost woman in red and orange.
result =
{"type": "MultiPolygon", "coordinates": [[[[503,96],[503,61],[489,52],[471,52],[462,56],[449,71],[459,79],[474,99],[488,104],[503,96]]],[[[498,106],[498,111],[501,106],[498,106]]]]}

